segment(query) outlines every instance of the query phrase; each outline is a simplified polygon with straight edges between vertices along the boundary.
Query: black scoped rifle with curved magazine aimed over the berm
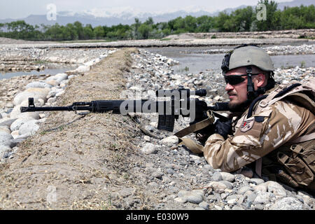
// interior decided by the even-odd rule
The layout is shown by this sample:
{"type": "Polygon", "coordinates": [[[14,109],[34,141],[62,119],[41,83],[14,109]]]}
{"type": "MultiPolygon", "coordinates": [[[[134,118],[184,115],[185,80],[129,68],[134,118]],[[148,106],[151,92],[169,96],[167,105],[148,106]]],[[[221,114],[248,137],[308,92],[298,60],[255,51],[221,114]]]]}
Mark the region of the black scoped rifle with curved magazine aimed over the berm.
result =
{"type": "Polygon", "coordinates": [[[207,90],[188,90],[183,87],[178,90],[157,90],[156,97],[170,97],[169,101],[139,100],[97,100],[92,102],[74,102],[71,106],[43,106],[34,105],[34,98],[29,98],[29,106],[22,106],[21,112],[34,111],[90,111],[105,113],[112,111],[127,115],[127,113],[158,113],[158,129],[173,132],[174,121],[179,116],[190,117],[190,124],[197,123],[209,117],[211,111],[217,118],[226,119],[213,111],[229,111],[228,103],[216,103],[208,106],[206,102],[190,98],[192,95],[207,96],[207,90]]]}

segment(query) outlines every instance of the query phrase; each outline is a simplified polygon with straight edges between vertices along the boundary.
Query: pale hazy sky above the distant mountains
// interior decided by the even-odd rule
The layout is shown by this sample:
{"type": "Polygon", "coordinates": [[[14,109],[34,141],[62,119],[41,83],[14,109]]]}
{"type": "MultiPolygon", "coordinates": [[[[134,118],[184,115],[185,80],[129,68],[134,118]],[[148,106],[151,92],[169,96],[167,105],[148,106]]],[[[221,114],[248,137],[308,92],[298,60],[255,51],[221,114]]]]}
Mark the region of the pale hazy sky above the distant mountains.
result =
{"type": "MultiPolygon", "coordinates": [[[[293,0],[274,0],[276,2],[293,0]]],[[[214,12],[225,8],[235,8],[241,5],[253,6],[258,0],[0,0],[0,19],[25,18],[28,15],[45,15],[47,6],[54,3],[58,11],[82,12],[113,11],[122,9],[142,12],[174,11],[177,9],[194,8],[214,12]]]]}

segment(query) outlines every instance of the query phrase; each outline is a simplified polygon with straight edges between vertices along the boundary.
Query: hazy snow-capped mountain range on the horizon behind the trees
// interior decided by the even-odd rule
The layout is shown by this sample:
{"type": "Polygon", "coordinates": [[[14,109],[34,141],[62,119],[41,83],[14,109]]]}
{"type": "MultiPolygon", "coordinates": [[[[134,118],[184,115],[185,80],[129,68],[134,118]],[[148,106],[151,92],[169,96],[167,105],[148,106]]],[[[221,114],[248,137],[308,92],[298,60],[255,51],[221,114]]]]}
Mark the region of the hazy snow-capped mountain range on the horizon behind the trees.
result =
{"type": "MultiPolygon", "coordinates": [[[[284,6],[294,7],[294,6],[309,6],[314,4],[314,0],[294,0],[288,2],[278,3],[278,8],[283,10],[284,6]]],[[[226,8],[225,12],[231,13],[233,10],[238,8],[246,8],[247,6],[239,6],[237,8],[226,8]]],[[[253,6],[255,7],[255,6],[253,6]]],[[[98,25],[106,25],[111,27],[112,25],[132,25],[134,23],[134,19],[138,18],[141,22],[146,21],[149,17],[153,18],[154,22],[167,22],[169,20],[173,20],[175,18],[186,17],[186,15],[192,15],[195,17],[199,17],[201,15],[209,15],[216,16],[220,13],[220,11],[209,12],[206,10],[198,10],[196,8],[186,9],[186,10],[177,10],[174,12],[168,13],[147,13],[147,12],[139,12],[134,10],[134,8],[124,8],[123,10],[112,12],[106,11],[103,9],[93,9],[93,10],[85,10],[80,13],[71,12],[71,11],[60,11],[57,12],[57,20],[47,20],[46,15],[29,15],[27,18],[20,19],[6,19],[0,20],[0,23],[4,22],[13,22],[16,20],[25,20],[30,25],[54,25],[56,22],[59,25],[66,25],[68,23],[73,23],[76,21],[81,22],[83,25],[90,24],[92,27],[96,27],[98,25]]]]}

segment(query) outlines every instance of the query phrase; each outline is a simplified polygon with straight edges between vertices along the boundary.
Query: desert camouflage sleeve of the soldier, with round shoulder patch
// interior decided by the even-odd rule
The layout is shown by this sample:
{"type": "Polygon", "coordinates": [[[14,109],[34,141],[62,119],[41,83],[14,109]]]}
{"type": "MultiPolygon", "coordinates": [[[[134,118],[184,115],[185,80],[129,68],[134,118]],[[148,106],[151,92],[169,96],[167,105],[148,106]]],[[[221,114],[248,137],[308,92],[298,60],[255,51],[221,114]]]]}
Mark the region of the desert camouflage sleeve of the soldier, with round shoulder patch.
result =
{"type": "Polygon", "coordinates": [[[239,119],[234,135],[226,140],[219,134],[212,134],[207,139],[203,153],[209,165],[232,172],[290,139],[314,132],[314,114],[286,101],[276,102],[253,117],[253,123],[247,129],[244,127],[245,116],[239,119]]]}

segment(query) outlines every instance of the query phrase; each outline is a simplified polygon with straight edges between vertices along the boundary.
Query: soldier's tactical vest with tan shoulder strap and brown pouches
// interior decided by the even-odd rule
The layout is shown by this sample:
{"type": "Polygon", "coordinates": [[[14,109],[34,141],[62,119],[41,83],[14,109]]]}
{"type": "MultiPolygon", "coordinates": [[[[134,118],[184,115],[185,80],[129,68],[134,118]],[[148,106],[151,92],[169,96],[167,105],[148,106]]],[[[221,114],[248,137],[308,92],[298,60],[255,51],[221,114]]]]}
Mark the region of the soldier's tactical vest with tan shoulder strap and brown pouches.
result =
{"type": "MultiPolygon", "coordinates": [[[[266,95],[265,95],[266,96],[266,95]]],[[[266,97],[262,97],[253,113],[259,113],[281,99],[286,99],[298,106],[315,112],[315,78],[307,83],[279,85],[266,97]]],[[[249,109],[251,110],[251,108],[249,109]]],[[[251,111],[248,111],[251,113],[251,111]]],[[[307,188],[315,191],[315,127],[297,139],[288,141],[283,146],[255,162],[258,175],[266,175],[274,181],[281,181],[294,188],[307,188]]]]}

